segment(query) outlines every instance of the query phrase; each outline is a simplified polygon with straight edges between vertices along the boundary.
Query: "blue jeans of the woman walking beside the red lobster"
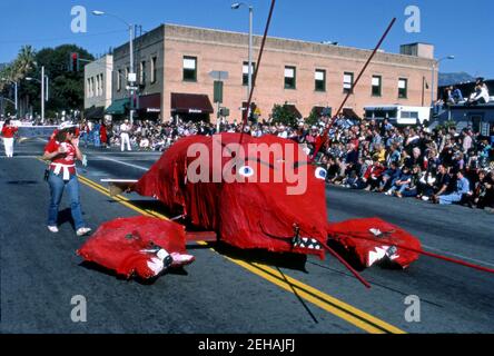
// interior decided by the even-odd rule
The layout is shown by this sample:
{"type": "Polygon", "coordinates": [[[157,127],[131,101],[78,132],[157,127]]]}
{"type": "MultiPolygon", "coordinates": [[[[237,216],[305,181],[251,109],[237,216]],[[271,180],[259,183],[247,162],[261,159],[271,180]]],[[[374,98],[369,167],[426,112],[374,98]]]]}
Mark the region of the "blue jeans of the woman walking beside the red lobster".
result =
{"type": "Polygon", "coordinates": [[[70,176],[70,180],[65,181],[62,178],[62,172],[58,176],[50,170],[50,176],[48,177],[48,184],[50,185],[50,205],[48,207],[48,226],[57,226],[58,219],[58,207],[60,206],[60,200],[63,195],[63,189],[67,187],[70,196],[70,210],[72,212],[73,222],[76,225],[76,230],[85,227],[85,221],[82,218],[82,210],[80,207],[79,199],[79,180],[76,175],[70,176]]]}

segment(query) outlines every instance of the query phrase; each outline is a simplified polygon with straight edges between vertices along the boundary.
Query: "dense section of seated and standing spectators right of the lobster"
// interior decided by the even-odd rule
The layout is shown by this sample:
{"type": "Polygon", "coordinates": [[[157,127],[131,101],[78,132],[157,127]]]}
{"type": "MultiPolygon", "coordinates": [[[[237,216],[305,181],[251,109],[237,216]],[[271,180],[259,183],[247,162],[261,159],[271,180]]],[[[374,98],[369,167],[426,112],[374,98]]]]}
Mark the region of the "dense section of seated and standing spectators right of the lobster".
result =
{"type": "MultiPolygon", "coordinates": [[[[494,136],[494,131],[492,134],[494,136]]],[[[435,204],[494,208],[492,137],[471,128],[338,120],[318,161],[332,184],[435,204]]]]}

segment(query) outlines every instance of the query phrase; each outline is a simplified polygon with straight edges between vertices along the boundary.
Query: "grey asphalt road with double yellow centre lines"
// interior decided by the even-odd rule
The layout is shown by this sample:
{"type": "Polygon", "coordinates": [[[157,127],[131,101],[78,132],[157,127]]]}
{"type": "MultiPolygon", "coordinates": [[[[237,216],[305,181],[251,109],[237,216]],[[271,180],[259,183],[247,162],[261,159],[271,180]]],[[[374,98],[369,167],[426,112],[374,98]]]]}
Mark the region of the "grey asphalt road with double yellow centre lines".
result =
{"type": "MultiPolygon", "coordinates": [[[[75,254],[83,238],[75,235],[67,200],[60,233],[47,230],[49,189],[37,159],[42,147],[26,141],[13,159],[0,158],[2,333],[494,333],[493,275],[425,256],[406,270],[364,270],[370,289],[332,257],[304,265],[198,244],[188,246],[192,265],[152,284],[116,278],[75,254]],[[71,319],[78,295],[87,301],[85,323],[71,319]],[[411,295],[419,299],[419,322],[405,318],[411,295]]],[[[159,155],[86,152],[89,166],[79,172],[90,227],[138,215],[90,181],[138,178],[159,155]]],[[[326,196],[332,221],[377,216],[429,251],[494,267],[492,214],[337,187],[327,187],[326,196]]],[[[129,198],[164,212],[157,201],[129,198]]]]}

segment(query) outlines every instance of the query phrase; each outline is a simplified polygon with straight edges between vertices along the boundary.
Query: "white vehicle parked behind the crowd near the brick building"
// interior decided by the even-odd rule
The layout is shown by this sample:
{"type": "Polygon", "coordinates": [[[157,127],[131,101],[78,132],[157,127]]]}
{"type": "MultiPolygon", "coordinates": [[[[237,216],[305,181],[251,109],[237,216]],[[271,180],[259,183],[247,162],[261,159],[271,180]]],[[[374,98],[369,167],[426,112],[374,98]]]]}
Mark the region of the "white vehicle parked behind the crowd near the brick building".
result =
{"type": "Polygon", "coordinates": [[[429,107],[408,107],[403,105],[381,105],[364,107],[365,118],[384,120],[388,119],[397,125],[423,125],[431,119],[429,107]]]}

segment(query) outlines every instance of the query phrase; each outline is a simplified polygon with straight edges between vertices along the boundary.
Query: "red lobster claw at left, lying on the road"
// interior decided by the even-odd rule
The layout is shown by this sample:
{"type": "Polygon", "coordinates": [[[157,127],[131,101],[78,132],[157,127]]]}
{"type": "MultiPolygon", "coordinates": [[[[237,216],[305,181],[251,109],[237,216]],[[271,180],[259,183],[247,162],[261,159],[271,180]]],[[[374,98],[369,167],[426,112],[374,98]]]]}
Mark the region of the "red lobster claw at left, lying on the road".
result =
{"type": "Polygon", "coordinates": [[[181,225],[145,216],[102,224],[77,254],[127,278],[151,278],[170,265],[194,261],[181,225]]]}

